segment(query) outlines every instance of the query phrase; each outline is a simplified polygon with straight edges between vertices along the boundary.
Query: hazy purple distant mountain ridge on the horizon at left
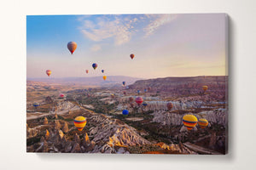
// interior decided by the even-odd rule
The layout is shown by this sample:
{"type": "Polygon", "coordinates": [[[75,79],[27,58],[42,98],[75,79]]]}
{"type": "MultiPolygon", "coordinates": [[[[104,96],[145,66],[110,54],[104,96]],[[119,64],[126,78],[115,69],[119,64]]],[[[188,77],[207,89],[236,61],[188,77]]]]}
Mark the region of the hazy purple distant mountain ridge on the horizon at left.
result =
{"type": "Polygon", "coordinates": [[[47,82],[47,83],[59,83],[59,84],[75,84],[75,85],[92,85],[109,87],[126,82],[126,85],[132,84],[141,78],[136,77],[124,77],[124,76],[109,76],[104,81],[102,77],[61,77],[61,78],[27,78],[27,81],[33,82],[47,82]]]}

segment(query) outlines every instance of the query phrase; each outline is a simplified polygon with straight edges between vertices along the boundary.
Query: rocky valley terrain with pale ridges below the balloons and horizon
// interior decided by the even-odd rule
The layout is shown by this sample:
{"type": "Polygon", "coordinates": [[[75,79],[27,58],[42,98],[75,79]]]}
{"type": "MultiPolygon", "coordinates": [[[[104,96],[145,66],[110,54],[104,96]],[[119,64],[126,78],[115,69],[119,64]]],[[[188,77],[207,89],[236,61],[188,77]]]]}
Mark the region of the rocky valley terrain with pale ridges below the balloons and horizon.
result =
{"type": "Polygon", "coordinates": [[[61,88],[46,82],[28,82],[26,150],[224,154],[228,121],[226,79],[167,77],[137,81],[129,88],[61,88]],[[202,92],[202,85],[208,86],[206,93],[202,92]],[[148,87],[150,90],[144,92],[148,87]],[[147,106],[129,100],[137,97],[137,89],[147,106]],[[60,91],[65,98],[58,98],[60,91]],[[34,101],[40,103],[37,108],[32,106],[34,101]],[[166,108],[168,102],[173,104],[172,111],[166,108]],[[129,111],[128,116],[122,115],[124,109],[129,111]],[[188,131],[182,122],[186,114],[207,119],[208,127],[196,126],[188,131]],[[82,132],[73,125],[76,116],[86,117],[82,132]]]}

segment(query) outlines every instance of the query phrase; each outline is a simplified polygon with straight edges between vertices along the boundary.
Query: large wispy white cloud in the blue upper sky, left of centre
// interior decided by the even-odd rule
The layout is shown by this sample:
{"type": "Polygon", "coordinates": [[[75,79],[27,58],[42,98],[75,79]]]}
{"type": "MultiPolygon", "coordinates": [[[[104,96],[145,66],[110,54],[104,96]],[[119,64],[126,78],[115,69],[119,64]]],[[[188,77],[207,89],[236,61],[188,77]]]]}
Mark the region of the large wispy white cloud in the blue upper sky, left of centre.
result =
{"type": "Polygon", "coordinates": [[[95,42],[101,42],[104,39],[113,38],[115,45],[121,45],[131,40],[131,35],[137,22],[137,18],[132,20],[122,20],[115,16],[112,20],[107,17],[98,17],[96,22],[83,20],[83,25],[79,28],[84,37],[90,38],[95,42]]]}

